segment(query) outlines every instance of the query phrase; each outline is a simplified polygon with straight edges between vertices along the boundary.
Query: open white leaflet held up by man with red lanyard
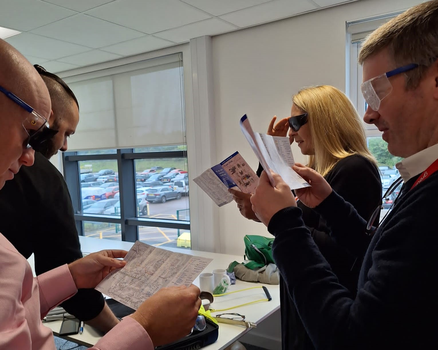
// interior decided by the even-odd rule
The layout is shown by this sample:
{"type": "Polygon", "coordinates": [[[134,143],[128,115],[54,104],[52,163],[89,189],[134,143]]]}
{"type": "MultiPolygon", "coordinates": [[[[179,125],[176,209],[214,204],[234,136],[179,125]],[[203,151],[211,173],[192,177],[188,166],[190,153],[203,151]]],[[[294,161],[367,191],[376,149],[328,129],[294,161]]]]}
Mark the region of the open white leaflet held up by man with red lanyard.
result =
{"type": "Polygon", "coordinates": [[[268,175],[272,187],[275,187],[275,182],[269,169],[281,175],[283,180],[290,186],[290,189],[310,186],[292,169],[295,161],[287,137],[254,133],[246,114],[240,119],[240,129],[268,175]]]}

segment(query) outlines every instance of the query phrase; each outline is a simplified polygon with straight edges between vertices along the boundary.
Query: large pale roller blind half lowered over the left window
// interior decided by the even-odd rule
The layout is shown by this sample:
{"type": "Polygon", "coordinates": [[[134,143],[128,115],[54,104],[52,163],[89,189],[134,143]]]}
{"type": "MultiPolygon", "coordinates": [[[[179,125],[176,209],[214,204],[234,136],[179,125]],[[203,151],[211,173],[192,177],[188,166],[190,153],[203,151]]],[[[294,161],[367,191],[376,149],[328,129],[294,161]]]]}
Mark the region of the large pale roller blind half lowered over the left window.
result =
{"type": "Polygon", "coordinates": [[[69,150],[184,144],[181,55],[65,79],[79,102],[69,150]]]}

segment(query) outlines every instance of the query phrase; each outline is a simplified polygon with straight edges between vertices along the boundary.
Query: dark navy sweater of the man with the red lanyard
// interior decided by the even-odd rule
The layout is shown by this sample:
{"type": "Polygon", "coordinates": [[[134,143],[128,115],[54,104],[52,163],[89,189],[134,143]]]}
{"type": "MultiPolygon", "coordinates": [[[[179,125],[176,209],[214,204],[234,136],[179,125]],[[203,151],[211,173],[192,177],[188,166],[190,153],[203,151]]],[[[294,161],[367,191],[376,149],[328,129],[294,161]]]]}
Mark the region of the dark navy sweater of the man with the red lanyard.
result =
{"type": "MultiPolygon", "coordinates": [[[[410,190],[408,181],[371,240],[357,296],[339,283],[311,238],[299,208],[268,225],[273,254],[317,349],[435,349],[438,346],[438,172],[410,190]]],[[[367,222],[333,192],[316,210],[340,244],[367,240],[367,222]]]]}

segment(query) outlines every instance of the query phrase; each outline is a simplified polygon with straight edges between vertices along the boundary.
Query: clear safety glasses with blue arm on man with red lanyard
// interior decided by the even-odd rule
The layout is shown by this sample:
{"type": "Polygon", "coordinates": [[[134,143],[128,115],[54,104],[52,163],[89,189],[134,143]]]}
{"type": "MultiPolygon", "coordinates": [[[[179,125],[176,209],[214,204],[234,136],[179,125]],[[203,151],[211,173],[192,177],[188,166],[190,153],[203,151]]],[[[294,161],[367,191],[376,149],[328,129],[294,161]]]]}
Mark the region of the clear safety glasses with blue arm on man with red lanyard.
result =
{"type": "Polygon", "coordinates": [[[381,101],[392,91],[392,85],[389,81],[390,77],[393,77],[399,73],[413,70],[418,66],[419,65],[417,63],[410,63],[406,66],[401,66],[377,77],[371,78],[370,80],[364,81],[360,85],[360,90],[362,91],[362,95],[364,95],[365,101],[371,107],[371,109],[373,111],[378,111],[381,101]]]}

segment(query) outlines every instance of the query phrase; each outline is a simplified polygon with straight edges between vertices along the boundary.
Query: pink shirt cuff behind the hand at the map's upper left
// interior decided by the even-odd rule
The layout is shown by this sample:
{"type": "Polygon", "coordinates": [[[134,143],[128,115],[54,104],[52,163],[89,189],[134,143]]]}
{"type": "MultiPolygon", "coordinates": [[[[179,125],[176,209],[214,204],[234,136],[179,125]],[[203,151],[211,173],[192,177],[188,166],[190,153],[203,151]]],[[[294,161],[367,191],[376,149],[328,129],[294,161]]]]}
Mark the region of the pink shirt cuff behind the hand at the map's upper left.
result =
{"type": "Polygon", "coordinates": [[[39,287],[41,318],[50,309],[72,297],[78,291],[67,264],[35,277],[39,287]],[[53,286],[56,286],[54,288],[53,286]]]}

